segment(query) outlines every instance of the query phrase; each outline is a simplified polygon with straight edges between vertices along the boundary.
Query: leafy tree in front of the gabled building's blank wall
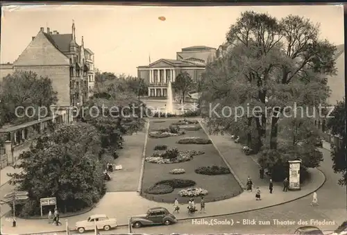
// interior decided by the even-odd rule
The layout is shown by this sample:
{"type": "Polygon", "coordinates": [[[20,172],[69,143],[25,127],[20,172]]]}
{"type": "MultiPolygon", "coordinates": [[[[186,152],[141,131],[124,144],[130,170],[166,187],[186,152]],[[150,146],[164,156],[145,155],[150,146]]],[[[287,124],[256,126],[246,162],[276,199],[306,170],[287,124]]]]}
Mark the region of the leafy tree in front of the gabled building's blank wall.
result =
{"type": "Polygon", "coordinates": [[[46,107],[50,112],[49,107],[58,101],[56,95],[49,78],[39,77],[31,71],[15,71],[3,78],[0,85],[0,125],[37,119],[38,107],[46,107]],[[19,109],[16,115],[16,107],[20,106],[35,108],[35,114],[28,109],[28,115],[24,115],[24,110],[19,109]]]}

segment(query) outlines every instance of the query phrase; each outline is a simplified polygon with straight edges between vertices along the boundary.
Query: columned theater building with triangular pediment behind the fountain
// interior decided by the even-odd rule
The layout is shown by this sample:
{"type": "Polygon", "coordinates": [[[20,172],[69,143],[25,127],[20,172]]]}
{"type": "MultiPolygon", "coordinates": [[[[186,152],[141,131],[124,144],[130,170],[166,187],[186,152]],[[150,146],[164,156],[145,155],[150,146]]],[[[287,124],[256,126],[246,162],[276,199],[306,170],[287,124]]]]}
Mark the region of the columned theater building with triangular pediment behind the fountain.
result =
{"type": "Polygon", "coordinates": [[[214,60],[216,49],[208,46],[191,46],[176,53],[177,60],[160,59],[137,67],[137,76],[149,85],[149,96],[166,97],[168,82],[175,82],[179,73],[187,72],[198,81],[208,62],[214,60]]]}

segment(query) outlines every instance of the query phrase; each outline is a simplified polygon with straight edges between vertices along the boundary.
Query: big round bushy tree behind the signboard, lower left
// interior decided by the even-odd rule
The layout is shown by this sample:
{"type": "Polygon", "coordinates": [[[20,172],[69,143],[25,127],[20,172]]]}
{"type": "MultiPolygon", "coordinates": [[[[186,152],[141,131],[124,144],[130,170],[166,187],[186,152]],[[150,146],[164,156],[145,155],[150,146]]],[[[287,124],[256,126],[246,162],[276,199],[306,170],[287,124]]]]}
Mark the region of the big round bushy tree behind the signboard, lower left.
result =
{"type": "Polygon", "coordinates": [[[40,214],[40,198],[56,197],[60,211],[89,207],[105,193],[99,162],[101,143],[92,125],[58,125],[56,131],[37,139],[19,159],[22,173],[10,176],[18,190],[28,191],[30,201],[18,205],[22,216],[40,214]]]}

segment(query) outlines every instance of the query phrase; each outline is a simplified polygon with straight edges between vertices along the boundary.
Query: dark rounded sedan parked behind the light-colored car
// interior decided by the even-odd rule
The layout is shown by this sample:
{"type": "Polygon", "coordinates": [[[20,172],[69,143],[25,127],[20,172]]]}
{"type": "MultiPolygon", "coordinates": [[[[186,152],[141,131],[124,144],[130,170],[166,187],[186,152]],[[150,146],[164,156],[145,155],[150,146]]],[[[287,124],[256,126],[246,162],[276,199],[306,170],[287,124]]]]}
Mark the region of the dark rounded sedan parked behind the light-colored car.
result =
{"type": "Polygon", "coordinates": [[[132,216],[130,224],[133,227],[146,225],[171,225],[177,223],[176,217],[164,207],[153,207],[144,215],[132,216]]]}

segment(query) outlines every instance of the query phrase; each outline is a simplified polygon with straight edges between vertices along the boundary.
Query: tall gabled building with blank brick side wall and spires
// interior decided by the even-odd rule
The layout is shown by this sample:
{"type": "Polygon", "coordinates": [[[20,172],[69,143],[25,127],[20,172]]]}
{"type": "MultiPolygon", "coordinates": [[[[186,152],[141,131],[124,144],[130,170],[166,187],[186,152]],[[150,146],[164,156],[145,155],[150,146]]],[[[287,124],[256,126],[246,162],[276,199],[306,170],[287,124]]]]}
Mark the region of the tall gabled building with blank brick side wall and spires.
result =
{"type": "Polygon", "coordinates": [[[81,45],[77,43],[74,23],[66,34],[40,28],[11,66],[14,71],[33,71],[50,78],[59,106],[83,105],[94,86],[94,53],[85,48],[83,37],[81,45]]]}

